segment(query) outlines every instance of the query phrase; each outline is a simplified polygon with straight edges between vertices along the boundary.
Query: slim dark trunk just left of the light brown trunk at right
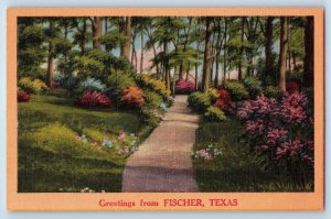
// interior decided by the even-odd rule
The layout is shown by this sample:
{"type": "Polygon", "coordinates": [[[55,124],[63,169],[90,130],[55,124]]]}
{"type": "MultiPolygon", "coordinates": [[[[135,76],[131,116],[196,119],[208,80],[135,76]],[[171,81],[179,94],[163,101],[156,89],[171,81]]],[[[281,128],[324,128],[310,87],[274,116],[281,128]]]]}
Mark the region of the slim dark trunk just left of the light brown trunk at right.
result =
{"type": "Polygon", "coordinates": [[[263,84],[266,84],[266,78],[270,77],[273,74],[273,22],[274,18],[268,17],[266,22],[266,45],[265,45],[265,55],[266,55],[266,67],[265,76],[263,77],[263,84]]]}

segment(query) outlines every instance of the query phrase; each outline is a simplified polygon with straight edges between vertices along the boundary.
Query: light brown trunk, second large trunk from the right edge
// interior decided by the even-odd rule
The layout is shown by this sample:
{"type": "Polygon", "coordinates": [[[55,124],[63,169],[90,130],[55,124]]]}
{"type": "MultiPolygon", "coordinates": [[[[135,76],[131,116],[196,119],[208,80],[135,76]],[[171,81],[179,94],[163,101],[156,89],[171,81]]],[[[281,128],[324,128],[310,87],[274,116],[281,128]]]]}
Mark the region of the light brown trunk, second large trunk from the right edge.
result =
{"type": "Polygon", "coordinates": [[[280,18],[279,89],[286,91],[286,55],[288,50],[288,18],[280,18]]]}

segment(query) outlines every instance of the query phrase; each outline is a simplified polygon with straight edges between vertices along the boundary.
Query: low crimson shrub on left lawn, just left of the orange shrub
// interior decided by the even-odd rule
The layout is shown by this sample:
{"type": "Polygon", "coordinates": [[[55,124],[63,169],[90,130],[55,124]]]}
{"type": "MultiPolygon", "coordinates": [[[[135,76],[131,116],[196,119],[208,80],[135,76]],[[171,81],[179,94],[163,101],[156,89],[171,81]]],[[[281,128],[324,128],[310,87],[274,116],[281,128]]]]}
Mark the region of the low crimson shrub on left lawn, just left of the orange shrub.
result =
{"type": "Polygon", "coordinates": [[[97,91],[84,92],[78,100],[82,107],[113,107],[113,101],[104,94],[97,91]]]}

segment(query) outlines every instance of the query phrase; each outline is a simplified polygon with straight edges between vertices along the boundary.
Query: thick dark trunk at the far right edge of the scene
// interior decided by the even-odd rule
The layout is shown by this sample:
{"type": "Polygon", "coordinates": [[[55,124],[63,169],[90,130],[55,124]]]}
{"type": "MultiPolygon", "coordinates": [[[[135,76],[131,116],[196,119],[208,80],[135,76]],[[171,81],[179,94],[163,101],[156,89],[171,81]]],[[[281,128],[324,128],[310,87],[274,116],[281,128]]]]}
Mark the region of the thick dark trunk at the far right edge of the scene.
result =
{"type": "Polygon", "coordinates": [[[313,85],[313,17],[308,17],[305,23],[305,62],[303,86],[313,85]]]}

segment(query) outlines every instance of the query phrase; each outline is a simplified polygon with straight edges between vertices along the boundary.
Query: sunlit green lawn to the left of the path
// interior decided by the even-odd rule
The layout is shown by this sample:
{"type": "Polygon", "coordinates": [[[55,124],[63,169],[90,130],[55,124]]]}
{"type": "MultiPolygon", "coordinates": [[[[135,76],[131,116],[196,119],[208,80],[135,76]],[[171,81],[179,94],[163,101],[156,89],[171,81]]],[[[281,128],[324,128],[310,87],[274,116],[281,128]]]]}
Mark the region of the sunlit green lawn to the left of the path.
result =
{"type": "Polygon", "coordinates": [[[19,191],[120,191],[128,155],[90,142],[121,131],[136,133],[139,143],[151,128],[134,110],[78,108],[65,90],[19,103],[19,191]],[[88,142],[75,139],[82,133],[88,142]]]}

